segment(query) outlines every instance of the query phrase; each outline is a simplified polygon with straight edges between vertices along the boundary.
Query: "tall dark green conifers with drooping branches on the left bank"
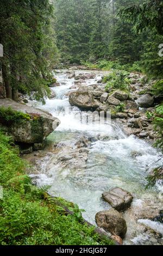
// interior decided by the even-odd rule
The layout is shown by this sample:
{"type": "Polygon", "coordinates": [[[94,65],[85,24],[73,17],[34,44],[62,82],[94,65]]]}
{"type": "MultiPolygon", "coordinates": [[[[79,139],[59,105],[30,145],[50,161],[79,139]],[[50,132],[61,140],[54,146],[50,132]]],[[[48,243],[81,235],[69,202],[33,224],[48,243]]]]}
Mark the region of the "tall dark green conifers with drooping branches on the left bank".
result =
{"type": "Polygon", "coordinates": [[[17,101],[18,91],[34,91],[35,99],[44,101],[58,58],[53,5],[49,0],[2,0],[0,9],[0,67],[7,97],[17,101]]]}

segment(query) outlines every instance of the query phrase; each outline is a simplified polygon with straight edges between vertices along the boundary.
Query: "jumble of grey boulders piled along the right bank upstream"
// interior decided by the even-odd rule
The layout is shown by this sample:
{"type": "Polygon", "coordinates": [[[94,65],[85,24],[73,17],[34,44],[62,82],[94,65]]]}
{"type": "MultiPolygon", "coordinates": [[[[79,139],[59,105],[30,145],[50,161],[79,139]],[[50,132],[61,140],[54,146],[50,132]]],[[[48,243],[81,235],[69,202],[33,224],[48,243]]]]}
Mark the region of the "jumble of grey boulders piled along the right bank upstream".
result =
{"type": "MultiPolygon", "coordinates": [[[[68,93],[71,106],[77,106],[81,110],[111,112],[111,119],[121,123],[123,131],[128,135],[135,135],[139,138],[147,138],[155,141],[159,137],[152,124],[152,118],[146,113],[154,111],[158,103],[158,97],[151,93],[153,83],[142,83],[145,76],[141,74],[129,74],[130,92],[110,89],[106,92],[105,83],[102,79],[96,83],[86,86],[85,81],[95,78],[95,74],[78,74],[71,70],[68,73],[74,77],[74,91],[68,93]],[[118,106],[123,105],[123,110],[118,106]]],[[[105,72],[105,75],[109,72],[105,72]]],[[[103,75],[104,76],[104,75],[103,75]]],[[[102,77],[103,77],[102,76],[102,77]]]]}

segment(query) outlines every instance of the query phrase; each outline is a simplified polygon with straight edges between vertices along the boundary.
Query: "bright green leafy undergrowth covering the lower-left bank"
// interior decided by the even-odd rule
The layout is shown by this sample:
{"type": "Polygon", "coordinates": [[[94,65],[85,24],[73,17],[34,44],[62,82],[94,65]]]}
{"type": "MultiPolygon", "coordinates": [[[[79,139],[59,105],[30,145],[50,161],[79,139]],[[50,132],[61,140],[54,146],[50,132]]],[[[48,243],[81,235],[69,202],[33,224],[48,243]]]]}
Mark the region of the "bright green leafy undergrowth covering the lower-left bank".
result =
{"type": "Polygon", "coordinates": [[[47,196],[47,187],[33,186],[25,174],[27,168],[12,138],[0,132],[1,245],[112,245],[112,241],[94,233],[94,227],[79,223],[77,206],[56,199],[74,209],[74,217],[67,215],[47,196]]]}

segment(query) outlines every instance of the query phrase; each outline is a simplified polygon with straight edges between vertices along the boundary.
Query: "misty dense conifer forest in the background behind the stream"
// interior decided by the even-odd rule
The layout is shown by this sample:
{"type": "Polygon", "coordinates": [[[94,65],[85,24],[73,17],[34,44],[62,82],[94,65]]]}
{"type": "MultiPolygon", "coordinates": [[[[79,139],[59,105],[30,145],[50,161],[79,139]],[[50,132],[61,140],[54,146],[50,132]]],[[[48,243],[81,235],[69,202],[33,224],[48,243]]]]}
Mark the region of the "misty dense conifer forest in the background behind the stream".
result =
{"type": "Polygon", "coordinates": [[[63,62],[162,77],[162,1],[58,0],[57,44],[63,62]]]}

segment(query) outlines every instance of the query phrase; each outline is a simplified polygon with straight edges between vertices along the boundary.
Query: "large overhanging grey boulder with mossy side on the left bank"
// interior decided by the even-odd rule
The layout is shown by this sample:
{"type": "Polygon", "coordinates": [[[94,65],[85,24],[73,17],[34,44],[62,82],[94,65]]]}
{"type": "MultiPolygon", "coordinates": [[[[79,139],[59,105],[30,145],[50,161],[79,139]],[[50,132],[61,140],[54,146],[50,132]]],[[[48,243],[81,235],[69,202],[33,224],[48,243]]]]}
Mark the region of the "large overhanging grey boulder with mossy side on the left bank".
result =
{"type": "MultiPolygon", "coordinates": [[[[22,122],[15,121],[9,127],[7,126],[8,132],[14,137],[14,141],[19,143],[42,143],[60,124],[58,118],[53,117],[46,111],[29,107],[10,99],[0,100],[0,105],[4,108],[11,107],[14,111],[21,111],[30,115],[29,120],[24,119],[22,122]]],[[[0,123],[6,126],[2,119],[0,123]]]]}

